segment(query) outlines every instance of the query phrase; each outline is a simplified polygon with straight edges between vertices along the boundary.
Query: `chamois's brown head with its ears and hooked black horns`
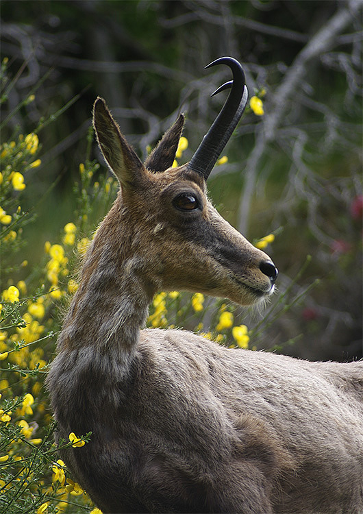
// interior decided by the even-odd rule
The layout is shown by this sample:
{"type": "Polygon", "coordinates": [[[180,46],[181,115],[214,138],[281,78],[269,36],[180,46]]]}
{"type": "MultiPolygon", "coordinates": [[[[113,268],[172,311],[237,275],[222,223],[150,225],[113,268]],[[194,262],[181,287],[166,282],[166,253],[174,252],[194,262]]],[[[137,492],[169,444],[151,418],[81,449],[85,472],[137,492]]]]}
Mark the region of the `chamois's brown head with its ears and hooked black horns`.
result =
{"type": "Polygon", "coordinates": [[[95,101],[94,126],[101,152],[121,184],[113,214],[109,214],[112,237],[121,241],[120,259],[129,258],[128,265],[134,266],[134,274],[149,294],[184,289],[247,305],[272,293],[277,269],[218,214],[206,194],[208,175],[248,97],[240,64],[227,57],[209,66],[215,64],[227,64],[234,77],[215,93],[229,87],[231,92],[187,164],[171,167],[184,125],[182,114],[145,164],[101,98],[95,101]]]}

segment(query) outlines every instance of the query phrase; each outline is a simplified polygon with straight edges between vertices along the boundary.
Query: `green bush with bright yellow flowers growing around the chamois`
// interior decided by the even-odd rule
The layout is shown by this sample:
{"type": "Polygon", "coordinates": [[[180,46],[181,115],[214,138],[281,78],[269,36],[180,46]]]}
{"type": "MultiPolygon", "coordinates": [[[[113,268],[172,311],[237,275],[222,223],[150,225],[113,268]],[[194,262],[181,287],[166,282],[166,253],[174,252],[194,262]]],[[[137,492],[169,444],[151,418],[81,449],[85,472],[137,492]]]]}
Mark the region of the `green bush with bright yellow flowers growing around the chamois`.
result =
{"type": "MultiPolygon", "coordinates": [[[[8,84],[6,64],[5,60],[1,66],[2,86],[8,84]]],[[[1,102],[5,101],[3,92],[1,102]]],[[[34,94],[21,102],[16,112],[31,101],[34,94]]],[[[256,114],[262,115],[262,103],[253,105],[258,108],[256,114]]],[[[53,114],[53,123],[60,114],[53,114]]],[[[10,120],[8,117],[4,123],[10,120]]],[[[24,212],[21,205],[27,195],[27,174],[41,164],[38,134],[48,122],[42,120],[29,134],[15,130],[0,146],[0,511],[96,514],[99,509],[58,458],[44,379],[55,352],[61,313],[77,290],[79,261],[92,237],[96,217],[108,211],[118,184],[100,173],[99,164],[90,159],[93,135],[89,132],[86,158],[79,164],[74,186],[76,210],[54,241],[45,243],[38,265],[30,265],[26,258],[27,224],[38,224],[41,232],[42,219],[36,218],[34,210],[24,212]]],[[[188,140],[182,138],[177,159],[182,158],[186,147],[188,140]]],[[[225,160],[223,157],[219,162],[225,160]]],[[[265,248],[274,237],[269,234],[255,244],[265,248]]],[[[261,332],[288,308],[288,295],[286,291],[262,320],[247,328],[240,310],[221,299],[161,291],[153,299],[147,324],[154,328],[184,327],[229,347],[254,349],[261,332]]],[[[289,306],[298,300],[293,299],[289,306]]],[[[60,445],[81,448],[89,441],[92,434],[71,433],[60,445]]]]}

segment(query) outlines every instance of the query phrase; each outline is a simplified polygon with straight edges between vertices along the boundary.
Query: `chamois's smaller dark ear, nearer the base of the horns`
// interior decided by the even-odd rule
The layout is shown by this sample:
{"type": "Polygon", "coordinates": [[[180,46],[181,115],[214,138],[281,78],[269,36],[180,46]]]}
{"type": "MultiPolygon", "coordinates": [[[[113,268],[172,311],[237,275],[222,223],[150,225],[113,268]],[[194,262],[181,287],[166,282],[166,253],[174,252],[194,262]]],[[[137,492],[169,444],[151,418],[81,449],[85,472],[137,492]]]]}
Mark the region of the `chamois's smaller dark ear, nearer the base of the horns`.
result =
{"type": "Polygon", "coordinates": [[[155,173],[165,171],[171,167],[175,159],[177,145],[182,135],[183,127],[184,114],[179,114],[177,121],[166,130],[157,147],[153,149],[147,160],[145,160],[145,167],[147,169],[155,173]]]}

